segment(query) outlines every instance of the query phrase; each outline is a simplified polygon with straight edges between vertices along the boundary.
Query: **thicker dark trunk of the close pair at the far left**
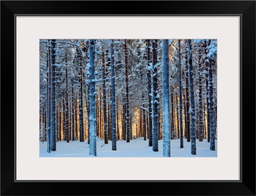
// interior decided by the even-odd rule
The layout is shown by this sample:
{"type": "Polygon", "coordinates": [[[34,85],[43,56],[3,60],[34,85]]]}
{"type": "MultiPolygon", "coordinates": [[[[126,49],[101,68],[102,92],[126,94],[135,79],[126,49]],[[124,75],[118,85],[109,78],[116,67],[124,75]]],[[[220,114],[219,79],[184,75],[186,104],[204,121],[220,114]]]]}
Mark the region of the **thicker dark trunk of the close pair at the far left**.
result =
{"type": "Polygon", "coordinates": [[[51,151],[56,151],[55,59],[56,40],[51,41],[51,151]]]}

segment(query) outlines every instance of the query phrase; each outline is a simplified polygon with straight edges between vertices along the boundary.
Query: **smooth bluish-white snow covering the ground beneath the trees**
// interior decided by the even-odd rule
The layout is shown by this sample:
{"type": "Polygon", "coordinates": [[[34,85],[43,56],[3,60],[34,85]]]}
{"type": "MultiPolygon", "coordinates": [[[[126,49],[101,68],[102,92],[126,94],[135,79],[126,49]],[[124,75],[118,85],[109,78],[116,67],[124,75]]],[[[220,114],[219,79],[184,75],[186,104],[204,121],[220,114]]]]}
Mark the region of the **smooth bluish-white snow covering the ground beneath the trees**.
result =
{"type": "MultiPolygon", "coordinates": [[[[196,155],[191,155],[191,142],[184,139],[184,148],[180,148],[180,140],[171,140],[171,157],[216,157],[217,156],[217,140],[215,141],[215,151],[210,150],[210,143],[207,140],[199,142],[196,140],[196,155]]],[[[163,140],[158,141],[159,151],[154,152],[152,147],[148,146],[148,140],[143,137],[130,140],[118,140],[116,142],[116,151],[112,151],[111,140],[108,144],[104,144],[104,140],[97,138],[97,156],[99,157],[162,157],[163,156],[163,140]]],[[[47,153],[47,142],[40,142],[40,157],[89,157],[89,144],[87,140],[80,142],[79,140],[57,142],[56,151],[47,153]]],[[[94,156],[93,156],[94,157],[94,156]]]]}

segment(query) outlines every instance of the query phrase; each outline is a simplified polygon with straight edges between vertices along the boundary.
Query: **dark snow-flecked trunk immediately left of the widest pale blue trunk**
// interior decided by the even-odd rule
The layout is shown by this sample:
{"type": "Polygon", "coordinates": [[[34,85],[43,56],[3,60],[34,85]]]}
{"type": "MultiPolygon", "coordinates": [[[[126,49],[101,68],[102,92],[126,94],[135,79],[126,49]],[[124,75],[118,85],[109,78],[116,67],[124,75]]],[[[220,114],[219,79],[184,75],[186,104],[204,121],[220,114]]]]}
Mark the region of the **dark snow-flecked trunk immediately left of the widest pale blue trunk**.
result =
{"type": "Polygon", "coordinates": [[[156,67],[156,40],[152,40],[152,149],[158,151],[158,110],[157,110],[157,67],[156,67]]]}

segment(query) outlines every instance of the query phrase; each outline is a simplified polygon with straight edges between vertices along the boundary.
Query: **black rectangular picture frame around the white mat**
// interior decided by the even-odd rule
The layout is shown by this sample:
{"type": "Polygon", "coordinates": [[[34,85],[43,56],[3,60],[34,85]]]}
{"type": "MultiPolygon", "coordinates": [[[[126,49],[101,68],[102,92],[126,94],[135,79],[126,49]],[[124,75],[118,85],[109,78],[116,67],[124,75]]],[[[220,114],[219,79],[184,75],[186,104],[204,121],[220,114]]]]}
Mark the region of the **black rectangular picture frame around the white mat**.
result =
{"type": "Polygon", "coordinates": [[[255,195],[255,1],[1,1],[1,195],[255,195]],[[241,17],[240,181],[15,181],[15,16],[84,14],[241,17]]]}

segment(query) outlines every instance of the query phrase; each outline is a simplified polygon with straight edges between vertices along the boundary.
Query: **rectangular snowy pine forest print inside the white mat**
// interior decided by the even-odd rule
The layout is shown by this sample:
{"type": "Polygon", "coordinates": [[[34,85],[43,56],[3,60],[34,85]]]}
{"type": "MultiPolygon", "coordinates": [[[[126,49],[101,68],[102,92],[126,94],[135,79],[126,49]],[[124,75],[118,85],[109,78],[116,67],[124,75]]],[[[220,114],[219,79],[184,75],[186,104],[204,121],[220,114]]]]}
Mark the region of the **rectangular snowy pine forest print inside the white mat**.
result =
{"type": "Polygon", "coordinates": [[[40,40],[40,157],[216,157],[217,40],[40,40]]]}

